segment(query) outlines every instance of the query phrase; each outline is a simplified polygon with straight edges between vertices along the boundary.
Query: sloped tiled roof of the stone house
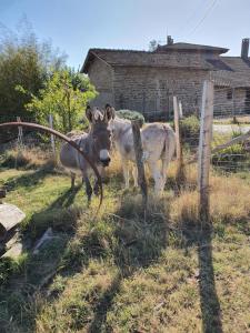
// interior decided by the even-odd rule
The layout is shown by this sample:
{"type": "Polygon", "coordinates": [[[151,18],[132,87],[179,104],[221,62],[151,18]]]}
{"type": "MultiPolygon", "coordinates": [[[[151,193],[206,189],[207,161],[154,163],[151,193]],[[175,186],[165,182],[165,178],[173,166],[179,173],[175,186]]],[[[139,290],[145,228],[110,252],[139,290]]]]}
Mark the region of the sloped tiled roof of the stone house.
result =
{"type": "Polygon", "coordinates": [[[250,87],[250,58],[224,57],[228,49],[190,43],[159,46],[153,52],[90,49],[81,72],[88,73],[94,58],[110,67],[188,68],[213,72],[218,85],[250,87]],[[209,54],[213,53],[214,57],[209,54]],[[208,54],[208,57],[206,57],[208,54]]]}

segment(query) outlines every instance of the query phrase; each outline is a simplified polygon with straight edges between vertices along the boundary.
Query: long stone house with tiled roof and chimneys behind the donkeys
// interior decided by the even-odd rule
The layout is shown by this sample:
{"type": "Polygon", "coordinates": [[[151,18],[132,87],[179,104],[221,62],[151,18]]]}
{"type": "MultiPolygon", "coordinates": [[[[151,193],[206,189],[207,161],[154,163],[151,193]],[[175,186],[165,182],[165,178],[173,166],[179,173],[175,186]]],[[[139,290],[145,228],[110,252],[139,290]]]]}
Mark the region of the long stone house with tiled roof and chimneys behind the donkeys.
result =
{"type": "Polygon", "coordinates": [[[169,120],[172,97],[178,95],[184,114],[198,113],[202,83],[216,83],[214,113],[250,111],[249,39],[242,40],[241,57],[224,57],[228,49],[173,43],[154,51],[90,49],[81,72],[89,75],[106,103],[137,110],[148,120],[169,120]]]}

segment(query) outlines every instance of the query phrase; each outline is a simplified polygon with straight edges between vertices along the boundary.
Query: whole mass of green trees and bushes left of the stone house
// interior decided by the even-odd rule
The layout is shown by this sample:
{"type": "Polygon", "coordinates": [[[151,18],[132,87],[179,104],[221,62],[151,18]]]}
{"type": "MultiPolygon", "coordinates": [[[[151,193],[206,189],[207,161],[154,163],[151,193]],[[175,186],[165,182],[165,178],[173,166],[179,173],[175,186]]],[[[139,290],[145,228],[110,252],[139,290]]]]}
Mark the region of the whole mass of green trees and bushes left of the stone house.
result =
{"type": "MultiPolygon", "coordinates": [[[[51,42],[39,41],[27,20],[19,31],[0,28],[0,119],[48,124],[69,132],[84,125],[84,109],[97,92],[87,77],[66,65],[66,54],[51,42]]],[[[0,133],[7,142],[11,131],[0,133]]]]}

